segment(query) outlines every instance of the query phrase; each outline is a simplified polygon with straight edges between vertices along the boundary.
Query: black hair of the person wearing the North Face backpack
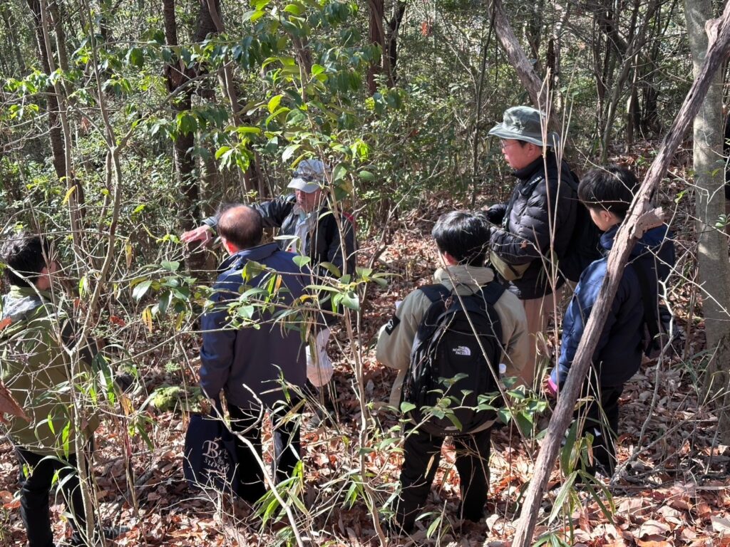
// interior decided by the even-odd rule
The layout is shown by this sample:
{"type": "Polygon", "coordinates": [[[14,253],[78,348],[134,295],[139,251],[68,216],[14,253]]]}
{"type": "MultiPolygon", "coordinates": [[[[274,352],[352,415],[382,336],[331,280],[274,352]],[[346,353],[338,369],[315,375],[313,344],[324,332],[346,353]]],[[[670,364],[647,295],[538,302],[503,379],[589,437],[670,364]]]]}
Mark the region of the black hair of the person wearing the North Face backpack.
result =
{"type": "Polygon", "coordinates": [[[479,213],[452,211],[442,214],[431,236],[439,251],[447,252],[459,264],[484,264],[489,249],[489,222],[479,213]]]}

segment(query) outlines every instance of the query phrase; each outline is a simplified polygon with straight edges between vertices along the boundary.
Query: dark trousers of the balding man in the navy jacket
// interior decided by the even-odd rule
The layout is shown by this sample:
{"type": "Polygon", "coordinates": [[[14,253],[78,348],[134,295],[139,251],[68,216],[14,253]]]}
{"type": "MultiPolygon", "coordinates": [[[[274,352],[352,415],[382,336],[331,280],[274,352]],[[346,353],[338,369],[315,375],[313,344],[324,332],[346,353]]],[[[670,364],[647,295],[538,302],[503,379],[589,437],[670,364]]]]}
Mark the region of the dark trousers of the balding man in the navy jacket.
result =
{"type": "MultiPolygon", "coordinates": [[[[293,406],[293,404],[292,404],[293,406]]],[[[285,420],[292,406],[277,407],[271,412],[274,441],[274,480],[283,481],[291,476],[299,462],[301,443],[299,441],[299,423],[296,419],[285,420]]],[[[264,412],[258,409],[239,408],[228,405],[231,414],[231,430],[250,441],[255,454],[261,458],[261,433],[264,429],[264,412]]],[[[249,503],[254,503],[266,494],[264,471],[256,458],[241,439],[236,438],[236,456],[238,459],[239,489],[237,494],[249,503]]]]}

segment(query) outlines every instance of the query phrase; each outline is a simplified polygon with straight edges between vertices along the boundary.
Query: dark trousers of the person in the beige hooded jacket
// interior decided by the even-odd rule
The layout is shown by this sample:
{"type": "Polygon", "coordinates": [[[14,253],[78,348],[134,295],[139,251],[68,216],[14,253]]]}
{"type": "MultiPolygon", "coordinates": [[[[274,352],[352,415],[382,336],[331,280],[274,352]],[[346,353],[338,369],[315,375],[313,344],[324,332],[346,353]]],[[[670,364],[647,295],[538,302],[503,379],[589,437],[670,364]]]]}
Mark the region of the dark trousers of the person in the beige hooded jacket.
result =
{"type": "MultiPolygon", "coordinates": [[[[396,505],[396,519],[405,532],[413,529],[415,519],[429,496],[443,443],[443,437],[407,430],[403,446],[401,493],[396,505]]],[[[456,470],[461,480],[461,516],[478,521],[484,516],[489,487],[491,429],[454,437],[453,443],[456,449],[456,470]]]]}

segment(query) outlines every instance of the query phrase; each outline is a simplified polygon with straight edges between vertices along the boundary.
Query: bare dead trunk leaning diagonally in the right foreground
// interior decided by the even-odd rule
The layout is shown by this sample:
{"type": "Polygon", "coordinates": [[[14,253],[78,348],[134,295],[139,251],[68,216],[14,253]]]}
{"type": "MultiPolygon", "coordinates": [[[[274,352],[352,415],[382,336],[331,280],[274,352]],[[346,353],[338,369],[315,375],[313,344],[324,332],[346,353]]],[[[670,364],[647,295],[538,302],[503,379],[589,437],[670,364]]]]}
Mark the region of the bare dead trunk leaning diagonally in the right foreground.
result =
{"type": "Polygon", "coordinates": [[[572,420],[573,408],[580,388],[583,386],[583,379],[591,366],[591,357],[602,333],[607,310],[615,298],[618,284],[621,281],[621,272],[634,247],[634,234],[637,233],[637,226],[642,222],[645,212],[650,209],[651,196],[666,173],[675,150],[684,139],[689,124],[699,112],[704,96],[712,84],[714,74],[730,54],[730,2],[726,4],[721,20],[714,22],[713,28],[717,33],[717,39],[710,40],[710,47],[707,49],[702,69],[699,70],[677,118],[659,147],[658,154],[631,204],[629,216],[616,234],[614,247],[608,257],[607,274],[602,282],[599,298],[593,307],[591,316],[588,317],[588,324],[568,373],[565,387],[558,397],[555,412],[550,419],[548,435],[537,457],[537,462],[535,462],[534,475],[525,494],[525,504],[517,524],[515,537],[512,540],[512,547],[531,545],[542,494],[548,478],[550,478],[550,470],[555,464],[565,430],[572,420]]]}

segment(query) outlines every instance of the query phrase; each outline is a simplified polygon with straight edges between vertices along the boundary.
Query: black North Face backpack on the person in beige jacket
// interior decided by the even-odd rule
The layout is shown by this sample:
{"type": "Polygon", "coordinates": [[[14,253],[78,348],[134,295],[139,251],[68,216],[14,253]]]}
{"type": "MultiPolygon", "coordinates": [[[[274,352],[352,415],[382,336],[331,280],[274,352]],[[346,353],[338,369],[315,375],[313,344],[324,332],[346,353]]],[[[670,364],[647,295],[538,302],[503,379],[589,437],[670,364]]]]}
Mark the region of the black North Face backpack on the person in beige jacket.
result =
{"type": "Polygon", "coordinates": [[[410,416],[429,435],[483,430],[496,419],[496,411],[475,407],[501,406],[502,324],[494,304],[505,289],[491,282],[461,298],[442,284],[419,290],[431,306],[413,341],[402,399],[412,403],[410,416]]]}

